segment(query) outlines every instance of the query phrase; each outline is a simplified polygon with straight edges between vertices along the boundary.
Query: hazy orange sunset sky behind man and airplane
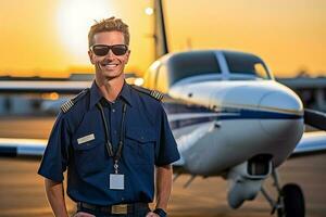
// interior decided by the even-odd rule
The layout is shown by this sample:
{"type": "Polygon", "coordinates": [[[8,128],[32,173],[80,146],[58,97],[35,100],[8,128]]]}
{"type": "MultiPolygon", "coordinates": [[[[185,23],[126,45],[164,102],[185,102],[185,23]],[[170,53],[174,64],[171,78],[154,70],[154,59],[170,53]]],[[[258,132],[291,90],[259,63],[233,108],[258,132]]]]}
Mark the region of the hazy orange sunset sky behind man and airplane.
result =
{"type": "MultiPolygon", "coordinates": [[[[1,0],[0,75],[66,76],[91,71],[87,31],[116,15],[130,26],[128,71],[153,61],[151,0],[1,0]]],[[[326,76],[324,0],[165,0],[168,46],[233,49],[265,60],[276,76],[326,76]]]]}

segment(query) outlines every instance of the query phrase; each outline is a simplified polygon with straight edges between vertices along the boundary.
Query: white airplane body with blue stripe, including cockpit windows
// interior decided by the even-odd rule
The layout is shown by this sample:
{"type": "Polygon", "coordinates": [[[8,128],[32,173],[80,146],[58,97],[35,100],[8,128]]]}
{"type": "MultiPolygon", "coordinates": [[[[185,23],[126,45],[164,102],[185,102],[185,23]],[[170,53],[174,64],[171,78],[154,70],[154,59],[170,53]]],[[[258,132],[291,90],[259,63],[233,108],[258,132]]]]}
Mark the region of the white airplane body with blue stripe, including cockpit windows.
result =
{"type": "MultiPolygon", "coordinates": [[[[277,167],[304,131],[299,97],[249,53],[170,53],[151,65],[145,86],[165,93],[163,105],[181,154],[175,165],[192,175],[227,177],[250,161],[256,168],[277,167]]],[[[240,174],[253,179],[272,170],[255,176],[246,169],[240,174]]]]}

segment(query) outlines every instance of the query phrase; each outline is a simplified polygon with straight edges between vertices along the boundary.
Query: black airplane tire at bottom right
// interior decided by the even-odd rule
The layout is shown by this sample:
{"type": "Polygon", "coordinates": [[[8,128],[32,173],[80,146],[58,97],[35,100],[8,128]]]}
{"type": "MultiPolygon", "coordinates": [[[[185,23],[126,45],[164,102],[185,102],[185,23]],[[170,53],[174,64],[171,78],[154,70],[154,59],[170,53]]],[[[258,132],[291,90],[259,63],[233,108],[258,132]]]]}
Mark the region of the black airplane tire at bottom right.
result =
{"type": "Polygon", "coordinates": [[[304,217],[304,196],[301,188],[294,183],[283,187],[284,209],[277,210],[278,217],[304,217]]]}

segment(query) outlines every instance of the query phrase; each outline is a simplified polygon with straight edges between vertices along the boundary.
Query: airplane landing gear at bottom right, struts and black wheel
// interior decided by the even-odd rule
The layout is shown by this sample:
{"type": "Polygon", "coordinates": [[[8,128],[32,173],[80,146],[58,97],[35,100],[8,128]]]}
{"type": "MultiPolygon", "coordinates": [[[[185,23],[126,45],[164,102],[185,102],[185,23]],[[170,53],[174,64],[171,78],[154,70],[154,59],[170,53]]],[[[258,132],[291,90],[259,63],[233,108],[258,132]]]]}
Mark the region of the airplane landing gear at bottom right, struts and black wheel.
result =
{"type": "Polygon", "coordinates": [[[273,200],[262,187],[261,192],[272,206],[272,215],[277,212],[278,217],[304,217],[304,196],[301,188],[294,183],[285,184],[283,188],[279,186],[278,176],[273,168],[272,177],[274,186],[278,193],[277,201],[273,200]]]}

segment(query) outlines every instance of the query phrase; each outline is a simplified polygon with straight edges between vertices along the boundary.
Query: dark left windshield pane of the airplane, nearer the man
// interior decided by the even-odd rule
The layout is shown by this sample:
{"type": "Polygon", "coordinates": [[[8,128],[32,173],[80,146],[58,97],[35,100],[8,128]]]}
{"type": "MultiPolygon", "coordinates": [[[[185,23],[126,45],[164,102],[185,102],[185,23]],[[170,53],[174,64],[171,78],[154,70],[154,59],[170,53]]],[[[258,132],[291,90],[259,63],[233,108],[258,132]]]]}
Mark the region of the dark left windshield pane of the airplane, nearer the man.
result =
{"type": "Polygon", "coordinates": [[[198,51],[175,54],[168,61],[168,68],[171,71],[171,84],[191,76],[221,74],[221,67],[214,52],[198,51]]]}

